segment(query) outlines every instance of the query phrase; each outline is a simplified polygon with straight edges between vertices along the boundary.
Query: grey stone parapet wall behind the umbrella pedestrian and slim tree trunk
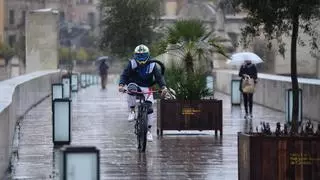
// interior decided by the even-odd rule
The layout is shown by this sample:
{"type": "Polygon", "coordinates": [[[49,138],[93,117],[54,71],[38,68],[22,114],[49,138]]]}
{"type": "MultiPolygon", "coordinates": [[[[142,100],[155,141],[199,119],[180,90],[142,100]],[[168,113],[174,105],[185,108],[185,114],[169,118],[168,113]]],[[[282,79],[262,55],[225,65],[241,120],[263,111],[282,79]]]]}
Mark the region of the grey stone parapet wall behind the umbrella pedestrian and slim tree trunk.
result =
{"type": "MultiPolygon", "coordinates": [[[[213,74],[215,89],[226,94],[231,92],[231,80],[239,79],[238,71],[215,70],[213,74]]],[[[320,122],[320,79],[299,78],[299,87],[303,91],[303,117],[320,122]]],[[[290,77],[259,73],[253,100],[257,104],[285,111],[285,92],[289,88],[290,77]]]]}

